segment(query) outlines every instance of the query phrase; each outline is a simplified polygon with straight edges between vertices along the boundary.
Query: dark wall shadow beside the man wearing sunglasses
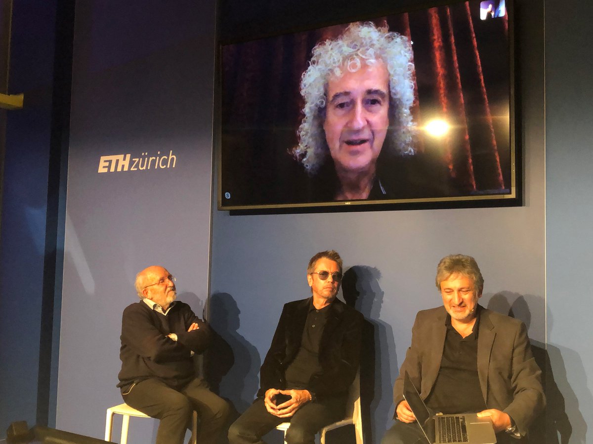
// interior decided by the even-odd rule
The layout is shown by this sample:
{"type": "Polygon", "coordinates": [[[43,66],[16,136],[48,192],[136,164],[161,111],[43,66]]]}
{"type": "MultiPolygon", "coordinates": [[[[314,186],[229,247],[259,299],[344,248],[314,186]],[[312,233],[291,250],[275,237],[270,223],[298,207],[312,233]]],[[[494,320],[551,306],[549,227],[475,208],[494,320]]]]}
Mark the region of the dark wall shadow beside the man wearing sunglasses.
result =
{"type": "Polygon", "coordinates": [[[344,301],[365,317],[362,330],[361,408],[365,442],[378,442],[387,420],[393,415],[391,365],[399,368],[393,329],[379,320],[384,292],[381,272],[369,266],[356,265],[346,270],[342,279],[344,301]],[[390,353],[391,350],[391,353],[390,353]]]}

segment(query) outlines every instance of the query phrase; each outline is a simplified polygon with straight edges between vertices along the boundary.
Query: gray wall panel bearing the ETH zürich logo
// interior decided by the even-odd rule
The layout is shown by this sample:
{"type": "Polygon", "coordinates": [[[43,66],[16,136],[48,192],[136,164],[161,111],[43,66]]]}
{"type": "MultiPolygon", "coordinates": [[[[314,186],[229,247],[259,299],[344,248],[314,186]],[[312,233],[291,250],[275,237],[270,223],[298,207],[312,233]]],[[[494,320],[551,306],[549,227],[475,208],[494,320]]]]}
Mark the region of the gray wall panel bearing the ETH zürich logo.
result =
{"type": "MultiPolygon", "coordinates": [[[[104,2],[77,5],[58,375],[57,427],[96,437],[122,402],[121,316],[138,300],[136,273],[166,266],[201,313],[211,219],[213,2],[112,3],[117,27],[104,2]],[[132,170],[159,151],[175,166],[132,170]],[[127,154],[127,171],[98,172],[100,156],[127,154]]],[[[131,426],[130,442],[154,440],[156,422],[131,426]]]]}

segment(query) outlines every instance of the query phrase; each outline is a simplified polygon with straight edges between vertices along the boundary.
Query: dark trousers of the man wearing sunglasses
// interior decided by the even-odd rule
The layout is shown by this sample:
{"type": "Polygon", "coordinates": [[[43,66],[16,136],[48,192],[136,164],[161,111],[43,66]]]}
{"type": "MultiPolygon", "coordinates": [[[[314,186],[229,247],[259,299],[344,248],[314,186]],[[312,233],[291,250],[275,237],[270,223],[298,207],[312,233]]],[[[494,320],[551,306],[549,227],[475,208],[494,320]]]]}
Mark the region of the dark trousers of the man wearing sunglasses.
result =
{"type": "Polygon", "coordinates": [[[315,433],[327,424],[344,419],[345,398],[332,398],[322,402],[303,404],[291,418],[279,418],[269,413],[263,398],[258,398],[232,425],[228,431],[230,444],[261,444],[262,436],[278,424],[290,421],[286,432],[288,444],[315,442],[315,433]]]}

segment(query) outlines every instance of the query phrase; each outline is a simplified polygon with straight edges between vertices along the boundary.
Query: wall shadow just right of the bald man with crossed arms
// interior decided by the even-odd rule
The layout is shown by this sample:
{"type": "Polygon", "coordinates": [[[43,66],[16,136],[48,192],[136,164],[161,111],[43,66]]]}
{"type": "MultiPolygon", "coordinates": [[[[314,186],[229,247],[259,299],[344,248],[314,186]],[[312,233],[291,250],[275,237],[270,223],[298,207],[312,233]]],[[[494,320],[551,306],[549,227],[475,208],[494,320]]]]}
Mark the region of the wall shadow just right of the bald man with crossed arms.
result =
{"type": "Polygon", "coordinates": [[[209,300],[212,345],[206,352],[205,376],[214,392],[231,403],[232,420],[253,403],[259,388],[259,352],[238,333],[241,311],[228,293],[213,294],[209,300]]]}

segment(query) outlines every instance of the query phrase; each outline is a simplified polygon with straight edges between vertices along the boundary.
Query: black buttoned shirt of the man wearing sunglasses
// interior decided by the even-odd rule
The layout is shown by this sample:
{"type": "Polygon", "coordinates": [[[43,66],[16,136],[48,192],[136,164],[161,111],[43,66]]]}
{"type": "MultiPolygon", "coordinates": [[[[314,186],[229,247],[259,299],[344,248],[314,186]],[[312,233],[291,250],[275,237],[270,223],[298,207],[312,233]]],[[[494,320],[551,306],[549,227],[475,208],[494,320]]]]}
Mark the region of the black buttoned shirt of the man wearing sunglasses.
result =
{"type": "Polygon", "coordinates": [[[321,371],[319,343],[321,342],[323,329],[326,326],[330,305],[317,310],[313,305],[313,298],[311,298],[305,328],[302,330],[301,348],[299,348],[294,361],[286,368],[287,388],[307,388],[311,376],[321,371]]]}

